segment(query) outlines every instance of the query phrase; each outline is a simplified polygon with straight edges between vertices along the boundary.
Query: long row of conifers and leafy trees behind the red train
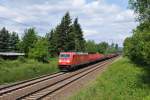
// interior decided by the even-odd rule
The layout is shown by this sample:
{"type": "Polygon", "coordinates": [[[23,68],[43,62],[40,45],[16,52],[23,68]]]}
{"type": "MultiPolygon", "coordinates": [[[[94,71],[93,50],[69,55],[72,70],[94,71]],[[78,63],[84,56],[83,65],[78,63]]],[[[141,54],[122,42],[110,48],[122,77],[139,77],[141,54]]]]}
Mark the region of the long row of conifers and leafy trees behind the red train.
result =
{"type": "Polygon", "coordinates": [[[109,45],[106,42],[96,44],[94,41],[86,41],[78,18],[72,21],[69,12],[44,37],[38,36],[35,28],[26,29],[21,39],[17,33],[10,33],[6,28],[0,30],[0,52],[24,52],[26,57],[39,61],[46,61],[49,57],[65,51],[107,54],[118,50],[118,44],[109,45]]]}

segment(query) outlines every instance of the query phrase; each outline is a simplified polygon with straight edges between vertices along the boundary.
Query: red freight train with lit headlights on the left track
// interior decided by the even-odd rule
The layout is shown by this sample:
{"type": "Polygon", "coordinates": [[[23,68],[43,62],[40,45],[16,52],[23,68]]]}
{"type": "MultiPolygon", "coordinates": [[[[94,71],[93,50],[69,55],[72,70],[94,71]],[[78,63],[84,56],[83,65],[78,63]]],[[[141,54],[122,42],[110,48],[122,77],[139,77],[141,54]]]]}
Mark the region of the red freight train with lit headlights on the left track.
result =
{"type": "Polygon", "coordinates": [[[79,68],[81,65],[99,62],[115,56],[117,54],[103,55],[99,53],[61,52],[58,67],[62,71],[70,71],[79,68]]]}

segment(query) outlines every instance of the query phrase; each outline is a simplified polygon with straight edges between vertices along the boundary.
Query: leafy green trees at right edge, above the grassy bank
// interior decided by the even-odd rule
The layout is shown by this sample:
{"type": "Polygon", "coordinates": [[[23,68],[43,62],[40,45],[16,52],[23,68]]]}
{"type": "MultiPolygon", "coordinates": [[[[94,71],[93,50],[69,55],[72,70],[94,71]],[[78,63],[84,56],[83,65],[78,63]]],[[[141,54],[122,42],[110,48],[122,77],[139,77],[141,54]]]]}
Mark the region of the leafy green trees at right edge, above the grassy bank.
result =
{"type": "Polygon", "coordinates": [[[129,0],[140,23],[124,41],[124,55],[137,64],[150,65],[150,1],[129,0]]]}

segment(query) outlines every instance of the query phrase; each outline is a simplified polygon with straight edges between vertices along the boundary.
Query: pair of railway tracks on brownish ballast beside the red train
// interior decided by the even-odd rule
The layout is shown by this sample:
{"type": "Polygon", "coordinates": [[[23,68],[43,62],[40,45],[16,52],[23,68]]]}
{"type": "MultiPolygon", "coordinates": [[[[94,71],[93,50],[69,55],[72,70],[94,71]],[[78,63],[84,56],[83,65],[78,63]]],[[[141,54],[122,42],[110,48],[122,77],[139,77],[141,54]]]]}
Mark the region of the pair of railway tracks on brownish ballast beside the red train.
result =
{"type": "MultiPolygon", "coordinates": [[[[115,58],[113,58],[115,59],[115,58]]],[[[113,61],[109,59],[70,73],[55,73],[0,88],[0,100],[40,100],[113,61]]]]}

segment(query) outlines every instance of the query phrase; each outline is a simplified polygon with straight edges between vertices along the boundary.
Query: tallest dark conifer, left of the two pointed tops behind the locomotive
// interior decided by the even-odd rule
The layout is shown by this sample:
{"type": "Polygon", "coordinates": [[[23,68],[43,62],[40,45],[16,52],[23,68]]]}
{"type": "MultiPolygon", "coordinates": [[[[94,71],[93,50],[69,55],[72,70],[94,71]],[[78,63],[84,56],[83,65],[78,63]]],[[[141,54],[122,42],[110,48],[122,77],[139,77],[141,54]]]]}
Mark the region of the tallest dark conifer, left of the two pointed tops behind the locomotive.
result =
{"type": "Polygon", "coordinates": [[[56,27],[53,35],[52,35],[52,43],[55,44],[56,52],[59,54],[61,51],[68,51],[69,50],[69,33],[71,27],[71,18],[69,12],[65,14],[62,18],[61,23],[56,27]]]}

